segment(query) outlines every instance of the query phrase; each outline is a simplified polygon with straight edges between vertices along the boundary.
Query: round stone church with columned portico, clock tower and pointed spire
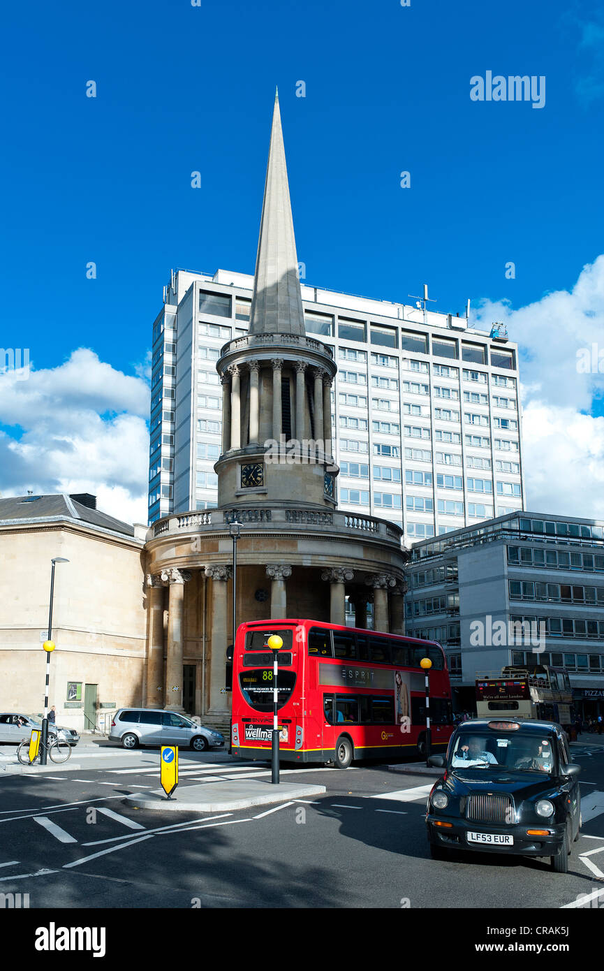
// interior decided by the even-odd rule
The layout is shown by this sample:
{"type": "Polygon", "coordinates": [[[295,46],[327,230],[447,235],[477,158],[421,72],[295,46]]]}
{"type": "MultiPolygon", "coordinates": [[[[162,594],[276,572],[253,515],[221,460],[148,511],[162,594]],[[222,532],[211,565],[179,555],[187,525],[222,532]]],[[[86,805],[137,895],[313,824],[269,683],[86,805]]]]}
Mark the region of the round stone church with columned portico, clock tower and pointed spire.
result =
{"type": "Polygon", "coordinates": [[[383,519],[338,511],[331,429],[333,353],[307,337],[279,100],[272,122],[249,333],[217,361],[218,508],[171,515],[147,536],[143,703],[230,717],[227,649],[236,622],[313,618],[404,632],[408,553],[383,519]],[[237,540],[233,605],[233,522],[237,540]]]}

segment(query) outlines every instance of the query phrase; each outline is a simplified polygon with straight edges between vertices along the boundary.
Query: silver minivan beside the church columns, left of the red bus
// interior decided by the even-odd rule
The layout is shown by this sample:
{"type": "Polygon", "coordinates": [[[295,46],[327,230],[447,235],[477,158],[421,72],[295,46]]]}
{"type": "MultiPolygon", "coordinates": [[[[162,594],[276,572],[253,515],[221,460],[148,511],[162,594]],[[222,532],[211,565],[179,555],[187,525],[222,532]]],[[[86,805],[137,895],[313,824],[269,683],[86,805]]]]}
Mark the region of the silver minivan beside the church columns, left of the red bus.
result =
{"type": "Polygon", "coordinates": [[[112,720],[109,740],[119,742],[123,749],[178,745],[194,752],[207,752],[224,745],[224,736],[218,731],[198,725],[185,715],[157,708],[120,708],[112,720]]]}

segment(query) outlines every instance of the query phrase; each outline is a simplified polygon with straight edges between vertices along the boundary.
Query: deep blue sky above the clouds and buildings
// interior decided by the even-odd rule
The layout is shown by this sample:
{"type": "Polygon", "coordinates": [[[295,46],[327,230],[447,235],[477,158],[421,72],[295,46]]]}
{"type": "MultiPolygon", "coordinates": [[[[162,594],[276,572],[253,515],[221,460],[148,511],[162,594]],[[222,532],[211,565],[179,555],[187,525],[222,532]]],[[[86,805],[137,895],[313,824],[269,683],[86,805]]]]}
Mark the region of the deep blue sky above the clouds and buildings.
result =
{"type": "MultiPolygon", "coordinates": [[[[37,370],[84,347],[134,376],[172,267],[252,273],[275,84],[307,283],[511,312],[603,251],[590,0],[34,0],[4,19],[0,344],[37,370]],[[545,107],[471,101],[487,70],[545,76],[545,107]]],[[[598,417],[591,391],[578,410],[598,417]]]]}

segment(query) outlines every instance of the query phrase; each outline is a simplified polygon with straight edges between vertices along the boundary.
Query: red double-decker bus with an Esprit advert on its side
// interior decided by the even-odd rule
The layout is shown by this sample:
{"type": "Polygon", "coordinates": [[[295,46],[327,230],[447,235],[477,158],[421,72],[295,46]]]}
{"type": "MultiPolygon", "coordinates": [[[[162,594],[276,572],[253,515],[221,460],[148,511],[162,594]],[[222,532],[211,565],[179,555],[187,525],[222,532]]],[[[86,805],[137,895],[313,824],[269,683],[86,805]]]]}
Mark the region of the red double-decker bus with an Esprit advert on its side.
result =
{"type": "Polygon", "coordinates": [[[434,641],[318,620],[253,620],[237,630],[233,653],[231,751],[268,759],[273,725],[273,654],[279,634],[280,759],[334,763],[425,753],[425,680],[430,669],[431,744],[444,751],[453,731],[445,653],[434,641]]]}

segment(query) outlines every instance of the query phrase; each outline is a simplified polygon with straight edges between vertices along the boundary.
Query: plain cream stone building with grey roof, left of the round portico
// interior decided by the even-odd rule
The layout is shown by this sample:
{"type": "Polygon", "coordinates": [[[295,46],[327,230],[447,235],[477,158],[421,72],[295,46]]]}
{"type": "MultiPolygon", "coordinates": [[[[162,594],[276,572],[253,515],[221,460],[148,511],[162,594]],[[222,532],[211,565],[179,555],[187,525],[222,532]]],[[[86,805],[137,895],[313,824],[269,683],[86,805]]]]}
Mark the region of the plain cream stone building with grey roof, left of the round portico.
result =
{"type": "Polygon", "coordinates": [[[95,508],[93,496],[0,499],[0,710],[44,710],[54,577],[50,704],[56,722],[105,730],[145,694],[146,528],[95,508]]]}

